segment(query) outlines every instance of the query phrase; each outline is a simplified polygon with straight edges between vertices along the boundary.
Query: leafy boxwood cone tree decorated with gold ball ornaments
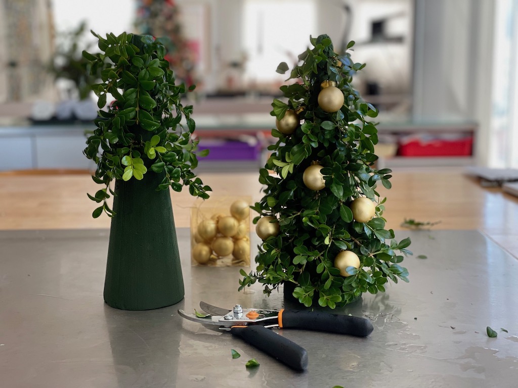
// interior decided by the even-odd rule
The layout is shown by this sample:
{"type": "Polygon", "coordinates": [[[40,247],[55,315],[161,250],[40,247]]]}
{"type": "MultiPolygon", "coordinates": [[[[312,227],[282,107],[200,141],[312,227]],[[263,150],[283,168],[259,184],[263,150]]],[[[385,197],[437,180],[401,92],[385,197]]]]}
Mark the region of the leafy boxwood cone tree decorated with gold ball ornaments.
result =
{"type": "MultiPolygon", "coordinates": [[[[281,86],[284,101],[272,103],[278,141],[260,170],[264,197],[252,206],[263,243],[256,271],[241,270],[239,289],[258,281],[269,295],[284,284],[285,295],[305,306],[318,300],[335,308],[384,292],[389,280],[408,281],[399,263],[411,254],[410,240],[397,242],[385,229],[376,186],[391,188],[391,170],[375,167],[370,119],[378,111],[351,84],[365,65],[335,53],[327,35],[310,40],[313,49],[291,71],[296,82],[281,86]]],[[[281,63],[277,71],[288,69],[281,63]]]]}

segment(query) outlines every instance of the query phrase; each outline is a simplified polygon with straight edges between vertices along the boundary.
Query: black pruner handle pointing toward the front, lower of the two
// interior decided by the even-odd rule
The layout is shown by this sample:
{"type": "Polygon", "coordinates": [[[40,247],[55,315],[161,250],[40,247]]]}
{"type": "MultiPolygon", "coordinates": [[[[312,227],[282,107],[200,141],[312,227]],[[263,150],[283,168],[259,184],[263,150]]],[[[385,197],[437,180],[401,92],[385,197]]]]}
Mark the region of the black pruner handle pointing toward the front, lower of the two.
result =
{"type": "Polygon", "coordinates": [[[308,367],[306,349],[264,326],[234,326],[230,332],[294,370],[304,371],[308,367]]]}

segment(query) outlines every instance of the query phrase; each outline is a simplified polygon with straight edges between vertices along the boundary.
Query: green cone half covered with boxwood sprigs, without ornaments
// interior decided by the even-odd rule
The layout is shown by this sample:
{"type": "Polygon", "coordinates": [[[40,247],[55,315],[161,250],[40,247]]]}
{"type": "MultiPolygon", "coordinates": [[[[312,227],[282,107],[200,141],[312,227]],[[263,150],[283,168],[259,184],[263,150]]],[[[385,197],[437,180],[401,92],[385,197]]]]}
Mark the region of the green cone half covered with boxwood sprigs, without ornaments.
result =
{"type": "Polygon", "coordinates": [[[104,108],[108,95],[116,99],[108,111],[99,110],[84,150],[97,163],[93,180],[104,186],[89,195],[100,204],[93,217],[103,212],[112,217],[105,301],[128,310],[175,304],[184,289],[168,189],[189,186],[191,195],[203,199],[210,190],[192,172],[198,163],[197,141],[191,141],[193,108],[181,104],[185,87],[175,85],[160,39],[93,34],[101,52],[83,56],[91,73],[101,74],[92,85],[97,106],[104,108]]]}

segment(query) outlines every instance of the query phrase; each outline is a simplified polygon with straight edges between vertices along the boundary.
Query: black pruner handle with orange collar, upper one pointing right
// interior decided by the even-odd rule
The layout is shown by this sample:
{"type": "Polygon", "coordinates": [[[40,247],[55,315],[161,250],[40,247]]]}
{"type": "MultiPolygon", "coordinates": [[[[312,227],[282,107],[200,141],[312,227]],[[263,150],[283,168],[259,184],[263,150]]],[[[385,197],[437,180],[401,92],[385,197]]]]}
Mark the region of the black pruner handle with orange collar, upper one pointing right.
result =
{"type": "Polygon", "coordinates": [[[372,323],[366,318],[328,314],[320,311],[281,310],[279,312],[279,326],[349,334],[357,337],[367,337],[374,330],[372,323]]]}

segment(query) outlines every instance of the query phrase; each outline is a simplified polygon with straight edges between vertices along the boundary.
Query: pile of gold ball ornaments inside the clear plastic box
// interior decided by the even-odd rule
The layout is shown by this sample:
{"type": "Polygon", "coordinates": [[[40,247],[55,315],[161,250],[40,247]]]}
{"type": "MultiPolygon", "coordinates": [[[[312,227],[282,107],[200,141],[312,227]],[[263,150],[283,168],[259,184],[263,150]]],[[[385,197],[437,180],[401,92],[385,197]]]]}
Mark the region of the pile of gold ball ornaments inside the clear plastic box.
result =
{"type": "Polygon", "coordinates": [[[215,213],[198,224],[192,248],[197,264],[217,265],[221,259],[232,256],[231,265],[250,265],[250,205],[237,200],[229,210],[230,215],[215,213]]]}

